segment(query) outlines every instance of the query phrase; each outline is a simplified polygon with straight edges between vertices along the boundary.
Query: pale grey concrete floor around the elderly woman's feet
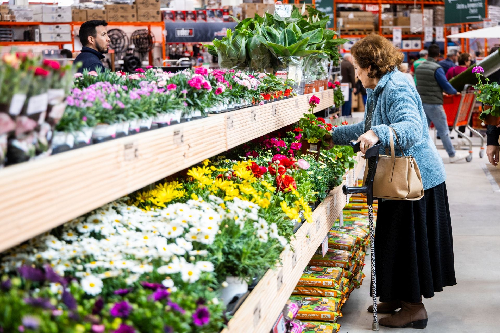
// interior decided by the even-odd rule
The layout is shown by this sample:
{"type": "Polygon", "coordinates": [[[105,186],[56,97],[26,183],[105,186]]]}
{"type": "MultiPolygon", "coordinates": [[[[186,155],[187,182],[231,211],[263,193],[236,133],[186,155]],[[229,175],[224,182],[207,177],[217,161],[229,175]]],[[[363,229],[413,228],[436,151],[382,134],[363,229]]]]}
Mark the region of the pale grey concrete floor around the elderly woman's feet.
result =
{"type": "MultiPolygon", "coordinates": [[[[500,317],[500,192],[493,191],[483,171],[487,157],[479,158],[478,147],[473,151],[471,162],[450,164],[446,152],[439,150],[447,174],[457,284],[423,301],[429,321],[419,333],[500,332],[496,322],[500,317]]],[[[366,311],[371,304],[368,256],[363,272],[361,288],[342,307],[341,333],[371,332],[372,314],[366,311]]],[[[389,315],[379,318],[383,316],[389,315]]],[[[380,327],[380,332],[390,333],[412,330],[380,327]]]]}

